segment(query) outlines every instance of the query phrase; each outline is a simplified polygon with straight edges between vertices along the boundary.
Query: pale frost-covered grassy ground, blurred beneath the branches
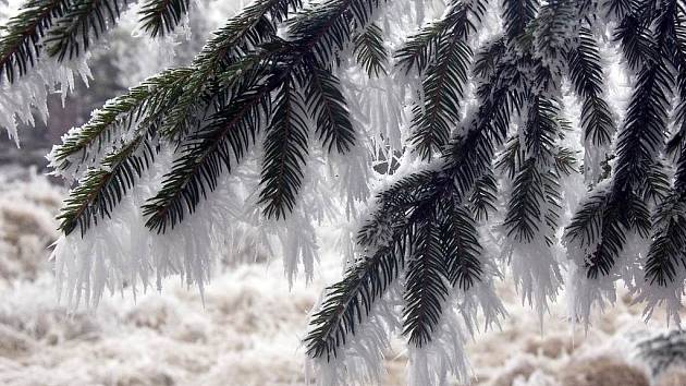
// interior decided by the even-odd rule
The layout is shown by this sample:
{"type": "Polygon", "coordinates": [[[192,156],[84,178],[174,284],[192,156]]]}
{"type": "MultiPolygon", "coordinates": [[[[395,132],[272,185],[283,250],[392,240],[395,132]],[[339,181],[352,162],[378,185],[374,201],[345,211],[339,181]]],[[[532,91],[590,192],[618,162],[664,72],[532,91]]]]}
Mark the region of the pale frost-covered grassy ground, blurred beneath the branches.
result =
{"type": "MultiPolygon", "coordinates": [[[[205,303],[195,288],[170,279],[162,293],[136,301],[107,297],[96,312],[66,315],[56,300],[48,245],[64,191],[25,170],[0,181],[0,384],[2,385],[303,385],[299,341],[320,290],[340,275],[326,248],[315,279],[289,289],[278,256],[221,266],[205,303]]],[[[331,245],[322,232],[321,245],[331,245]]],[[[329,232],[330,233],[330,232],[329,232]]],[[[510,317],[468,346],[475,385],[686,385],[676,366],[650,378],[636,341],[663,328],[644,324],[626,292],[585,333],[565,318],[564,302],[546,317],[500,285],[510,317]],[[575,330],[576,329],[576,330],[575,330]]],[[[396,340],[384,384],[404,384],[396,340]]]]}

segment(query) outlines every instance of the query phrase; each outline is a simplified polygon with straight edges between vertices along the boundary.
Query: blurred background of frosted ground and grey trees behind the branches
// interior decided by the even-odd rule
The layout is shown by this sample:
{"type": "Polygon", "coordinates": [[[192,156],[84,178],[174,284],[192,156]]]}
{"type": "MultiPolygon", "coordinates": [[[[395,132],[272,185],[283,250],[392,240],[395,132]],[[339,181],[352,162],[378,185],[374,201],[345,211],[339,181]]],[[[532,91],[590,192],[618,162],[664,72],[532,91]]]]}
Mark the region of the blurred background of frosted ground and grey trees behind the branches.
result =
{"type": "MultiPolygon", "coordinates": [[[[199,2],[187,27],[162,41],[132,35],[130,10],[95,52],[89,85],[78,83],[64,104],[52,96],[48,122],[20,131],[21,148],[0,140],[1,385],[308,383],[301,339],[320,291],[341,274],[334,227],[322,228],[322,258],[308,285],[290,288],[279,256],[247,245],[245,256],[219,264],[204,303],[197,289],[170,279],[162,293],[114,294],[95,312],[68,315],[48,258],[69,189],[45,176],[51,146],[108,98],[159,69],[187,63],[240,7],[236,0],[199,2]]],[[[502,281],[499,293],[510,317],[468,345],[475,385],[686,386],[686,335],[669,330],[659,313],[645,324],[625,290],[588,330],[564,317],[564,293],[542,326],[511,282],[502,281]]],[[[396,339],[385,385],[404,384],[405,361],[396,339]]]]}

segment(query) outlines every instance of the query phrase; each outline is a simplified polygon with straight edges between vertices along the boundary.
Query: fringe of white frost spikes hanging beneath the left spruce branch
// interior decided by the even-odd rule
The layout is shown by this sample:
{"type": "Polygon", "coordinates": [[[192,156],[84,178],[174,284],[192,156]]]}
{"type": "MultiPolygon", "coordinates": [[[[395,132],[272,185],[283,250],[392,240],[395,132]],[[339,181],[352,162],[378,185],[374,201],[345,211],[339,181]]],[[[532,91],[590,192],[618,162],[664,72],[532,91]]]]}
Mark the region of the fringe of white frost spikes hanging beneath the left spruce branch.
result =
{"type": "MultiPolygon", "coordinates": [[[[256,149],[231,173],[222,174],[217,189],[200,201],[184,221],[157,234],[145,227],[140,206],[159,190],[177,156],[172,145],[160,145],[162,149],[156,162],[123,196],[111,218],[91,226],[85,238],[76,230],[57,242],[53,257],[59,263],[58,289],[70,306],[77,306],[83,298],[86,304],[96,306],[106,292],[106,282],[110,292],[121,291],[124,284],[133,286],[133,291],[138,285],[147,289],[151,280],[161,290],[163,279],[172,275],[196,286],[201,294],[211,277],[213,262],[241,255],[245,245],[234,242],[236,234],[268,243],[271,255],[283,256],[284,272],[291,280],[301,269],[310,280],[319,260],[315,225],[340,218],[336,208],[341,207],[341,202],[348,201],[353,207],[369,194],[365,157],[355,157],[357,162],[342,160],[331,168],[323,161],[321,149],[313,149],[293,213],[285,220],[267,221],[256,203],[257,160],[261,159],[260,149],[256,149]],[[333,181],[332,173],[340,173],[343,181],[333,181]],[[336,200],[341,194],[339,183],[350,189],[341,201],[336,200]],[[236,248],[228,249],[231,245],[236,248]],[[88,293],[84,291],[87,287],[91,288],[88,293]]],[[[364,148],[354,152],[364,152],[364,148]]]]}

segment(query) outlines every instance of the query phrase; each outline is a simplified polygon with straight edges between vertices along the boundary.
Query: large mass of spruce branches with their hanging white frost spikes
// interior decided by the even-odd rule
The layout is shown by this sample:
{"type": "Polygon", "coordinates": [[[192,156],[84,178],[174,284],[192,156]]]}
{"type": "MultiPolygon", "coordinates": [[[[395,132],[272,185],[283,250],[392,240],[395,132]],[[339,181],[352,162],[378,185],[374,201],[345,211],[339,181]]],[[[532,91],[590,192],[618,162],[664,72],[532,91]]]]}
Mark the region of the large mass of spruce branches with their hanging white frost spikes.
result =
{"type": "MultiPolygon", "coordinates": [[[[623,281],[647,316],[665,304],[678,323],[683,3],[408,3],[254,1],[191,63],[68,133],[50,159],[78,181],[53,254],[70,304],[171,275],[203,290],[243,232],[309,278],[317,224],[346,215],[343,278],[304,339],[321,384],[379,382],[395,333],[411,384],[467,381],[477,314],[504,316],[501,269],[541,319],[566,278],[574,321],[623,281]],[[632,80],[626,106],[609,100],[611,76],[632,80]]],[[[169,36],[189,7],[140,10],[144,31],[169,36]]],[[[64,41],[59,58],[85,48],[64,41]]],[[[8,81],[28,76],[22,63],[8,81]]]]}

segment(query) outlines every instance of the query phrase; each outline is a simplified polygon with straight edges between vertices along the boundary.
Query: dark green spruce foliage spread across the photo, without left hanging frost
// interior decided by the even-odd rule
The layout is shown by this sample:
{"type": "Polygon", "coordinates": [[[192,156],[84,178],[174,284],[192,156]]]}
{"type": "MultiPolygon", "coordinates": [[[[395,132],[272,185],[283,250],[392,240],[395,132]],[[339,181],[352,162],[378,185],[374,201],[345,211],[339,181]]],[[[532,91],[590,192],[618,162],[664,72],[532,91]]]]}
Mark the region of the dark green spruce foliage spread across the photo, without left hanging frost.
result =
{"type": "MultiPolygon", "coordinates": [[[[83,55],[123,7],[30,1],[3,29],[0,70],[13,83],[48,60],[44,49],[58,61],[83,55]]],[[[590,306],[611,300],[607,288],[623,277],[648,315],[666,303],[678,321],[686,280],[684,3],[450,0],[400,46],[378,21],[389,7],[256,0],[191,64],[111,99],[51,153],[56,172],[77,180],[59,216],[64,238],[88,238],[107,221],[162,148],[172,149],[171,165],[140,208],[151,232],[187,221],[250,155],[261,157],[262,217],[291,218],[315,154],[332,159],[356,157],[365,144],[390,147],[383,135],[363,137],[355,94],[346,89],[350,69],[342,69],[350,56],[357,76],[394,80],[412,92],[402,100],[411,106],[403,159],[421,164],[392,177],[368,204],[354,258],[311,316],[304,342],[322,372],[348,365],[354,345],[375,358],[392,323],[417,353],[460,346],[453,310],[470,333],[477,309],[487,324],[498,322],[503,312],[491,286],[500,273],[482,234],[493,220],[503,260],[541,317],[562,285],[555,251],[565,246],[567,281],[578,287],[572,317],[588,323],[590,306]],[[494,10],[503,28],[481,36],[494,10]],[[610,26],[610,44],[635,80],[622,122],[605,99],[599,41],[610,26]],[[571,219],[563,186],[580,184],[581,168],[569,143],[577,128],[565,111],[567,84],[580,105],[583,168],[601,167],[592,155],[610,152],[608,172],[586,181],[571,219]],[[402,311],[381,317],[380,305],[393,302],[402,311]],[[373,339],[356,340],[375,326],[381,333],[373,339]]],[[[142,28],[169,34],[188,11],[185,0],[146,0],[142,28]]]]}

